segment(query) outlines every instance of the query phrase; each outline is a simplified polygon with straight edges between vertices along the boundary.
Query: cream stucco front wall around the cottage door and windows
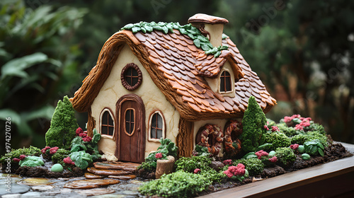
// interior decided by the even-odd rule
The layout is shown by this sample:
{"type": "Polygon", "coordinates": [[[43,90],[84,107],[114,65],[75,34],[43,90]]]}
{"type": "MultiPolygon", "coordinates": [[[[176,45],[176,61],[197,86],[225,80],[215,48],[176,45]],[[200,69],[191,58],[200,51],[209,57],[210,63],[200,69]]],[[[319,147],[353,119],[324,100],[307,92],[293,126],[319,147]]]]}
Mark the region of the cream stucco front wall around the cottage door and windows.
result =
{"type": "MultiPolygon", "coordinates": [[[[115,119],[118,120],[118,115],[115,115],[116,103],[122,95],[134,93],[138,95],[144,101],[145,106],[145,136],[146,136],[146,148],[145,148],[145,157],[151,152],[156,151],[159,147],[159,141],[148,141],[149,137],[149,115],[156,110],[160,110],[165,118],[165,127],[166,127],[166,136],[165,138],[171,139],[176,143],[176,137],[178,134],[178,122],[180,115],[178,111],[166,100],[165,96],[159,88],[152,81],[147,70],[139,62],[139,59],[130,50],[128,45],[125,45],[120,51],[118,59],[116,60],[112,71],[110,71],[110,76],[103,84],[101,91],[98,93],[98,96],[93,101],[91,105],[92,116],[96,120],[96,129],[100,132],[100,115],[102,110],[105,107],[109,107],[115,119]],[[122,86],[120,81],[120,74],[123,67],[128,63],[135,63],[139,66],[139,69],[142,71],[142,84],[135,91],[128,91],[122,86]]],[[[119,121],[118,121],[119,122],[119,121]]],[[[117,124],[115,124],[115,127],[117,124]]],[[[113,134],[115,136],[115,134],[113,134]]],[[[102,136],[101,140],[98,142],[98,149],[103,151],[103,153],[108,153],[114,155],[115,153],[115,140],[110,136],[102,136]]]]}

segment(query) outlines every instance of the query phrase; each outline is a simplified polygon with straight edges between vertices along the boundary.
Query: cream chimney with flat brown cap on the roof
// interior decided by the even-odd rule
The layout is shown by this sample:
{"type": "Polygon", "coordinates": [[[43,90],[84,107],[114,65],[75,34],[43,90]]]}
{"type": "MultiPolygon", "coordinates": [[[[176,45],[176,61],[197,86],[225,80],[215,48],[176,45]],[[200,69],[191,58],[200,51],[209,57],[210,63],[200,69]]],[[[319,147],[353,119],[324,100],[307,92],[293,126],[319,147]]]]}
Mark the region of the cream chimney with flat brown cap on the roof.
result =
{"type": "Polygon", "coordinates": [[[225,18],[197,13],[188,19],[188,23],[198,28],[202,35],[210,40],[212,46],[219,47],[222,44],[224,24],[229,23],[229,21],[225,18]]]}

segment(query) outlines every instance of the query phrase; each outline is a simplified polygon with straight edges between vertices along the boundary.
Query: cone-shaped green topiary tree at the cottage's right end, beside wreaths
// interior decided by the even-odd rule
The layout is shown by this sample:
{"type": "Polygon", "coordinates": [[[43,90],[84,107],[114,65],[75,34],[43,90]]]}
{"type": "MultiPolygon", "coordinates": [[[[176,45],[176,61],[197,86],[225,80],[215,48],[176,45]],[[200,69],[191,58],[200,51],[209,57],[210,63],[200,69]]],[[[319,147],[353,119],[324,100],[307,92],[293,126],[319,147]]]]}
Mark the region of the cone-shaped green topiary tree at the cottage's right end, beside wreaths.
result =
{"type": "Polygon", "coordinates": [[[264,125],[267,124],[267,118],[261,107],[258,105],[256,98],[249,98],[249,106],[244,112],[242,125],[244,127],[240,136],[242,141],[242,149],[246,152],[256,151],[258,146],[264,144],[266,130],[264,125]]]}

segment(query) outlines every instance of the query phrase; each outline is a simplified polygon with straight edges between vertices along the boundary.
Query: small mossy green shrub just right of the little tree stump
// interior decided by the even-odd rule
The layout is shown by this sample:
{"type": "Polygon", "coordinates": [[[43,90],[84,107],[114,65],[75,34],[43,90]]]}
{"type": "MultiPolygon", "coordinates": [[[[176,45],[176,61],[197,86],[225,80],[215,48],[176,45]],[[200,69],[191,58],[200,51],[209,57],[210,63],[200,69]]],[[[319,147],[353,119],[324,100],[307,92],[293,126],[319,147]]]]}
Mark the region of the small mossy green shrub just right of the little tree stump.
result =
{"type": "Polygon", "coordinates": [[[176,161],[176,171],[184,170],[188,173],[193,173],[195,168],[199,168],[202,171],[211,170],[210,163],[212,162],[212,158],[207,156],[192,156],[190,158],[182,157],[176,161]]]}

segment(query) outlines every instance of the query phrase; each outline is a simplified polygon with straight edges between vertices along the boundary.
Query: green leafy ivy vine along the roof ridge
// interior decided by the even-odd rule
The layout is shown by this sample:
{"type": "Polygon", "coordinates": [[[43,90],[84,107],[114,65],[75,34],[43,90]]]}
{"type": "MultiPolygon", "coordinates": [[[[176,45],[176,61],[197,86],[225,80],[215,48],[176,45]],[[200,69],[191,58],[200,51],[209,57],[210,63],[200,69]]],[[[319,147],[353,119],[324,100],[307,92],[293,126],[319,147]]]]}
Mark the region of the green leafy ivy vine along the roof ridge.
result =
{"type": "MultiPolygon", "coordinates": [[[[205,54],[214,54],[214,57],[219,57],[222,50],[227,50],[227,46],[220,45],[219,47],[213,47],[207,37],[203,36],[200,33],[198,28],[195,28],[193,25],[186,24],[180,25],[179,23],[164,23],[159,22],[155,23],[154,21],[151,23],[140,22],[140,23],[129,23],[125,25],[120,30],[131,30],[132,33],[137,33],[141,31],[142,33],[151,33],[153,30],[161,31],[164,34],[173,33],[173,29],[178,30],[183,35],[188,35],[193,40],[195,47],[201,48],[205,51],[205,54]]],[[[227,36],[222,35],[222,39],[225,39],[227,36]]]]}

